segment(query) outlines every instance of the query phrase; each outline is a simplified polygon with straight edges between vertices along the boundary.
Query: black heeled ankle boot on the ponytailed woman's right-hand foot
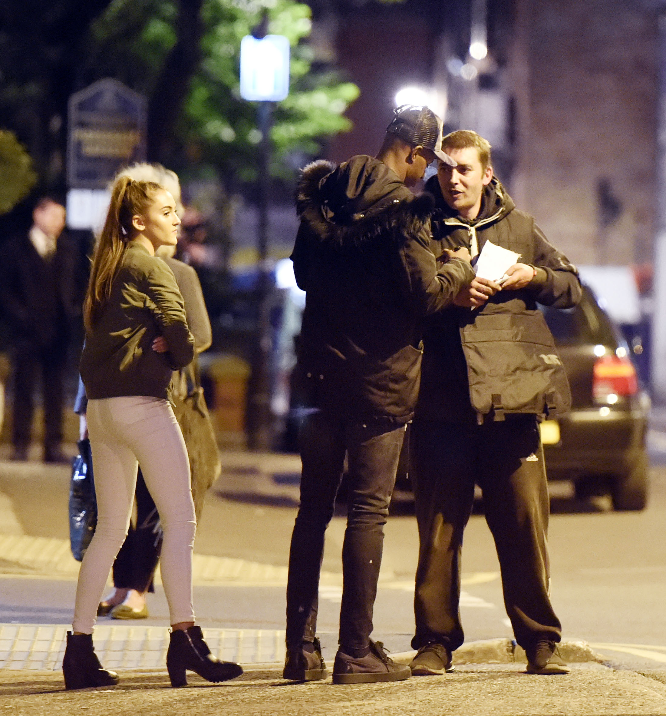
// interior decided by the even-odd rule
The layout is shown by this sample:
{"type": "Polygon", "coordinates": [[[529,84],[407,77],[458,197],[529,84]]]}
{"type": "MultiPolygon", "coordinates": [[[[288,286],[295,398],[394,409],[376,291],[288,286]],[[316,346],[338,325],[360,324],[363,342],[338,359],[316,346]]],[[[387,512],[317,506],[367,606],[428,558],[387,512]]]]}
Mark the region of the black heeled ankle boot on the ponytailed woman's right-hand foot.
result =
{"type": "Polygon", "coordinates": [[[243,673],[238,664],[220,662],[203,640],[201,627],[176,629],[171,632],[167,652],[167,671],[172,686],[187,686],[185,669],[190,669],[206,681],[218,682],[233,679],[243,673]]]}

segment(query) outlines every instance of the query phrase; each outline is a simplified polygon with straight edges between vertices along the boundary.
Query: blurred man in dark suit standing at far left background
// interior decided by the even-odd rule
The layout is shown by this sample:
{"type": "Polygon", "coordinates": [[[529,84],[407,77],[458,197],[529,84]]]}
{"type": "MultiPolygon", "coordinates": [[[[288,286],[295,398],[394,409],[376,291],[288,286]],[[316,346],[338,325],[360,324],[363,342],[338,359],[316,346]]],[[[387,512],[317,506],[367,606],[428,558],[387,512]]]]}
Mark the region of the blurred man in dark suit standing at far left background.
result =
{"type": "Polygon", "coordinates": [[[41,377],[44,404],[44,462],[64,463],[62,410],[69,321],[77,301],[77,248],[62,231],[65,208],[53,198],[36,203],[29,231],[0,251],[0,300],[11,331],[14,367],[12,460],[26,460],[41,377]]]}

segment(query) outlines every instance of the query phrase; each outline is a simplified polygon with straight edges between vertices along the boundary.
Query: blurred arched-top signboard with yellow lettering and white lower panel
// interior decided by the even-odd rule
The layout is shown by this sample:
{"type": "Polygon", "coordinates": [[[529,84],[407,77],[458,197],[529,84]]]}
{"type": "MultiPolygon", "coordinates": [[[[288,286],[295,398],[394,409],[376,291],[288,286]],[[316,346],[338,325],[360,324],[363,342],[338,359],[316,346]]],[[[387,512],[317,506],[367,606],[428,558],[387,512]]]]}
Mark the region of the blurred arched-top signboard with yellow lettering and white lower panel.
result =
{"type": "Polygon", "coordinates": [[[100,79],[69,98],[67,223],[92,228],[108,203],[115,173],[146,158],[145,97],[116,79],[100,79]]]}

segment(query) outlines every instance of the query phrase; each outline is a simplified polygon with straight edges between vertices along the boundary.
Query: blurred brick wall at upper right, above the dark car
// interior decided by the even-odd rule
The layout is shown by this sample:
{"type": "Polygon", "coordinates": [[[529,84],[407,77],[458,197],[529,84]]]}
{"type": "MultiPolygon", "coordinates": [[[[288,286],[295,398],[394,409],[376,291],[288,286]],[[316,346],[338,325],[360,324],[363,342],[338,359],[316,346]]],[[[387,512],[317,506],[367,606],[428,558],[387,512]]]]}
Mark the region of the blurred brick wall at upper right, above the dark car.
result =
{"type": "Polygon", "coordinates": [[[519,207],[575,263],[652,261],[657,18],[632,0],[516,0],[519,207]]]}

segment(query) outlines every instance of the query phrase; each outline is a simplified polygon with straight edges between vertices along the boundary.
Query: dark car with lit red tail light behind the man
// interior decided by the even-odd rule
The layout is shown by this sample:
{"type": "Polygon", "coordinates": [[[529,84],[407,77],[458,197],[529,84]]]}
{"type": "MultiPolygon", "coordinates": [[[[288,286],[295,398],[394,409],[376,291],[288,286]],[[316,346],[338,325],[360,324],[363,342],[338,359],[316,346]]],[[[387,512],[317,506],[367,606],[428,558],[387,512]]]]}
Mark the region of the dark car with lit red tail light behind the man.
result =
{"type": "Polygon", "coordinates": [[[549,480],[572,480],[579,498],[610,493],[615,510],[642,510],[650,398],[630,349],[585,286],[578,306],[541,308],[572,392],[572,409],[541,425],[549,480]]]}

